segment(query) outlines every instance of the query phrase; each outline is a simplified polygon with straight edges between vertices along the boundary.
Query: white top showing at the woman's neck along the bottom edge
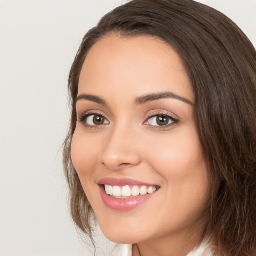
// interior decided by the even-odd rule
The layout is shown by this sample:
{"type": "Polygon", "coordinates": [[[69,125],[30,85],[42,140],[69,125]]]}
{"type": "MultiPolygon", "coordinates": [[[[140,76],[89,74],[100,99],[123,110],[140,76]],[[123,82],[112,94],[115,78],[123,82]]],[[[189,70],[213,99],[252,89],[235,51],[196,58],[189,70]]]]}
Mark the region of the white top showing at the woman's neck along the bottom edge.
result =
{"type": "MultiPolygon", "coordinates": [[[[111,256],[132,256],[132,244],[116,244],[111,256]]],[[[202,242],[187,256],[213,256],[208,242],[202,242]]]]}

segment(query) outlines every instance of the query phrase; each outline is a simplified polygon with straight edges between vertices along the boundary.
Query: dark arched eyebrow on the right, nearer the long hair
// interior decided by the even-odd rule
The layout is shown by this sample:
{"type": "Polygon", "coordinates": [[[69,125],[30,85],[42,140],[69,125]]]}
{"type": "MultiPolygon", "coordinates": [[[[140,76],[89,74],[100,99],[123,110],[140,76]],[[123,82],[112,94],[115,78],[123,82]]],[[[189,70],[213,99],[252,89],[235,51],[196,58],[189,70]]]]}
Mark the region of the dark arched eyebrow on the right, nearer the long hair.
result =
{"type": "Polygon", "coordinates": [[[160,93],[152,93],[152,94],[140,96],[135,99],[135,104],[141,105],[150,101],[163,99],[163,98],[174,98],[174,99],[181,100],[189,105],[193,105],[193,103],[189,99],[178,96],[172,92],[160,92],[160,93]]]}

